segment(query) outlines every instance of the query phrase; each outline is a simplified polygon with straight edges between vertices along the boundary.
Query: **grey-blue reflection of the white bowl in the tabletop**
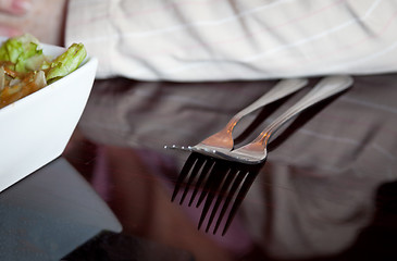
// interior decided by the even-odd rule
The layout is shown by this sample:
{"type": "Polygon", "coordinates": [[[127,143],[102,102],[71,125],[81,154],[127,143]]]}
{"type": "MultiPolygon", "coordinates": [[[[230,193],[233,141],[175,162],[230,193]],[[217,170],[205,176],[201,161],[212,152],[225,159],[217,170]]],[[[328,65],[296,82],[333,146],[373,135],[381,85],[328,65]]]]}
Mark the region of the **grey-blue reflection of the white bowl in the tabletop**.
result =
{"type": "Polygon", "coordinates": [[[0,195],[1,260],[60,260],[121,224],[63,158],[0,195]]]}

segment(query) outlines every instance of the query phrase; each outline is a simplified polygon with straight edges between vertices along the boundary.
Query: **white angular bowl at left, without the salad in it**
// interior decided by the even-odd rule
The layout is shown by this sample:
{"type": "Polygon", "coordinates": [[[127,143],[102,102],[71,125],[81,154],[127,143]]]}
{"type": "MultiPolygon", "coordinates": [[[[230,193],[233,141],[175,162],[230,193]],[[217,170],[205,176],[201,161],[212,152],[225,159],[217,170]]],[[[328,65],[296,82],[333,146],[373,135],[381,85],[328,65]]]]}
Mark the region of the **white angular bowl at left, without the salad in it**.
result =
{"type": "MultiPolygon", "coordinates": [[[[51,57],[65,51],[49,45],[42,50],[51,57]]],[[[88,57],[70,75],[0,109],[0,191],[63,152],[87,103],[97,65],[98,60],[88,57]]]]}

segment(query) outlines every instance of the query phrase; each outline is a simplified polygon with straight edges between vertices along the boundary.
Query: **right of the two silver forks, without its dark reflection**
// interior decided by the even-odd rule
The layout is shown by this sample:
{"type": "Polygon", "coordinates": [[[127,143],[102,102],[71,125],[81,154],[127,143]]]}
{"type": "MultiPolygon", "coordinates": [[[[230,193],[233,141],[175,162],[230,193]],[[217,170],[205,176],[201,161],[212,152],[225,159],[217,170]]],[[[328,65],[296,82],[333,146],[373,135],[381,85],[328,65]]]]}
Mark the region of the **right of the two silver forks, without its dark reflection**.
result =
{"type": "Polygon", "coordinates": [[[263,132],[250,144],[232,151],[212,150],[211,154],[216,158],[237,161],[246,164],[257,164],[266,159],[268,142],[270,137],[290,119],[305,111],[309,107],[348,89],[352,85],[352,78],[347,75],[325,77],[309,91],[296,104],[274,120],[263,132]]]}

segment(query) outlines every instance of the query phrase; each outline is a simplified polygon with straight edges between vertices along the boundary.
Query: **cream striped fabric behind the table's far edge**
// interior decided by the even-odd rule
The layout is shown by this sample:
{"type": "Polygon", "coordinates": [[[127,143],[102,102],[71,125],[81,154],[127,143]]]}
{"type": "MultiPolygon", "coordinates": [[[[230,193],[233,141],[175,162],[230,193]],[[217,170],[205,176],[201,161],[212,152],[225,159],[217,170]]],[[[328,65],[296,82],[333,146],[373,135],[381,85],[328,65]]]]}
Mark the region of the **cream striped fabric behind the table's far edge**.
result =
{"type": "Polygon", "coordinates": [[[98,77],[266,79],[397,71],[396,0],[71,0],[98,77]]]}

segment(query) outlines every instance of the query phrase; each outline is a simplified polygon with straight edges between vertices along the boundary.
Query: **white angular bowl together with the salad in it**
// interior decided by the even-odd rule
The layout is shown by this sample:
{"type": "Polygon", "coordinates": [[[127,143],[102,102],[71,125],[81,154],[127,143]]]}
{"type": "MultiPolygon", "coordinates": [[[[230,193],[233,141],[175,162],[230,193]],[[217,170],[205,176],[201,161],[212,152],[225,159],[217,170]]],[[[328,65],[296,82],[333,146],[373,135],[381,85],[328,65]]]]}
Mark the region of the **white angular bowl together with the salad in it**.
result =
{"type": "Polygon", "coordinates": [[[62,154],[97,65],[83,44],[0,37],[0,191],[62,154]]]}

